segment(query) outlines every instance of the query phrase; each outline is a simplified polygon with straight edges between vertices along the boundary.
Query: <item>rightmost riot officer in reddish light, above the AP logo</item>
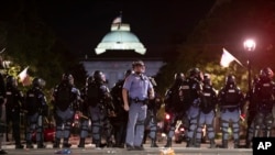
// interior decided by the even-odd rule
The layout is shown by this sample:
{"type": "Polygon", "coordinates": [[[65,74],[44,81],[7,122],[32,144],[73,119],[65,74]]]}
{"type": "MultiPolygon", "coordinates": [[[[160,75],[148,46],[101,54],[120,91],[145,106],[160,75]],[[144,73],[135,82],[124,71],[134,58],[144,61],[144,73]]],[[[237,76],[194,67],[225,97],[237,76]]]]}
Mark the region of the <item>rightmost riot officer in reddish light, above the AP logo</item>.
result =
{"type": "Polygon", "coordinates": [[[254,118],[254,136],[270,137],[274,118],[272,109],[275,99],[275,84],[272,80],[274,74],[270,67],[265,67],[260,71],[260,80],[255,85],[255,95],[257,99],[257,113],[254,118]]]}

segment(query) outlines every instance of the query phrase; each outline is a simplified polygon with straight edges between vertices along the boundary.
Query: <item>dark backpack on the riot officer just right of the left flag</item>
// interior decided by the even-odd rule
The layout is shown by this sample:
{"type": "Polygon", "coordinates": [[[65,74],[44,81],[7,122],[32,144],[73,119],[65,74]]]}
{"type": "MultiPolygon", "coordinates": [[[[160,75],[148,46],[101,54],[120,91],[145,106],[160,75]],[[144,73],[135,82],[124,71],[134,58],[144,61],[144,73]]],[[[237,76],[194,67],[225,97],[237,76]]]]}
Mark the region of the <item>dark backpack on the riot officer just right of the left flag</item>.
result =
{"type": "Polygon", "coordinates": [[[34,114],[37,112],[40,108],[37,91],[35,89],[31,89],[26,92],[25,97],[25,110],[28,114],[34,114]]]}

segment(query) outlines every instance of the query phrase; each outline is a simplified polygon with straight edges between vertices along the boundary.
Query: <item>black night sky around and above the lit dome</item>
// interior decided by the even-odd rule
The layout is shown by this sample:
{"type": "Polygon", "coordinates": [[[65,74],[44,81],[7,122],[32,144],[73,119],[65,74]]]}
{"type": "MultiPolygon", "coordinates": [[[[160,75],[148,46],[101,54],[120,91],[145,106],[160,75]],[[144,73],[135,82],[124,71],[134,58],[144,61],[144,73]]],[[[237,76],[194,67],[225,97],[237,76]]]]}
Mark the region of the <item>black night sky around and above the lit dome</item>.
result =
{"type": "Polygon", "coordinates": [[[55,0],[37,1],[44,21],[70,49],[94,55],[94,48],[110,31],[112,20],[122,11],[147,48],[160,55],[185,40],[215,0],[55,0]]]}

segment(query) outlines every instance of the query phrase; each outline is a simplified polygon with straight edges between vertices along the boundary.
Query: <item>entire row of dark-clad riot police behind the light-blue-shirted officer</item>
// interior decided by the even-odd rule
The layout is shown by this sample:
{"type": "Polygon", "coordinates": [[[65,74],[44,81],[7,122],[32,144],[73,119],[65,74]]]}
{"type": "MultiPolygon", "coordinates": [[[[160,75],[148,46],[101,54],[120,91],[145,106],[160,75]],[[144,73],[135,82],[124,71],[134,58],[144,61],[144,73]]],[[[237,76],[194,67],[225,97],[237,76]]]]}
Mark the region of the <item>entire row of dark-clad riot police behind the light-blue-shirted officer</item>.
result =
{"type": "MultiPolygon", "coordinates": [[[[56,123],[55,140],[53,147],[70,147],[69,137],[72,123],[77,113],[80,119],[80,141],[78,147],[85,147],[85,140],[91,132],[92,142],[97,148],[102,146],[124,147],[129,113],[124,109],[122,89],[125,78],[134,74],[127,70],[124,79],[118,81],[109,90],[106,85],[105,74],[96,70],[86,79],[86,86],[79,90],[74,85],[74,77],[64,74],[61,84],[54,88],[53,100],[54,119],[56,123]],[[89,122],[91,124],[89,125],[89,122]],[[111,139],[114,136],[114,141],[111,139]],[[102,136],[106,144],[101,144],[102,136]],[[62,141],[63,139],[63,141],[62,141]]],[[[228,147],[228,129],[232,124],[234,147],[240,147],[240,114],[243,117],[245,101],[248,106],[248,133],[246,146],[251,144],[253,136],[271,136],[274,124],[272,108],[275,100],[275,85],[272,80],[273,71],[266,67],[260,71],[258,78],[254,79],[253,89],[246,96],[237,85],[235,77],[228,75],[224,86],[217,91],[211,84],[209,74],[202,75],[198,68],[193,68],[189,76],[183,73],[175,75],[175,81],[165,95],[165,112],[170,115],[167,130],[167,143],[165,147],[172,147],[177,121],[182,121],[185,128],[187,147],[200,147],[202,129],[206,126],[210,147],[216,147],[215,118],[220,111],[222,144],[228,147]]],[[[150,79],[150,78],[148,78],[150,79]]],[[[156,86],[152,79],[152,86],[156,86]]],[[[37,148],[44,148],[43,144],[43,118],[47,117],[47,100],[42,90],[45,81],[34,78],[32,88],[23,96],[18,89],[16,79],[8,76],[1,102],[6,106],[7,119],[4,124],[12,123],[15,148],[23,148],[20,137],[20,112],[26,113],[26,147],[33,148],[32,134],[36,132],[37,148]]],[[[160,110],[162,98],[155,92],[154,100],[146,102],[148,109],[143,125],[150,131],[151,147],[156,144],[156,112],[160,110]]],[[[3,125],[7,128],[7,125],[3,125]]],[[[146,135],[145,135],[146,137],[146,135]]],[[[1,151],[0,151],[1,152],[1,151]]]]}

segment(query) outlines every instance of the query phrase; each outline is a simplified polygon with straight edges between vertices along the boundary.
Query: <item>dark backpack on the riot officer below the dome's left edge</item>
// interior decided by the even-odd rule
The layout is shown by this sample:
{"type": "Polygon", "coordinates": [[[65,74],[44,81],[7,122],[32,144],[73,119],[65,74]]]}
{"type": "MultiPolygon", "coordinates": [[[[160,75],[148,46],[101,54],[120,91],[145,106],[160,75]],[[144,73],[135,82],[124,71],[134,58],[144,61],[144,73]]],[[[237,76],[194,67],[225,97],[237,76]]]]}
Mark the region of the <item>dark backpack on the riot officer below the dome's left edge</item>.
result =
{"type": "Polygon", "coordinates": [[[96,82],[90,82],[86,88],[87,101],[91,107],[96,107],[100,100],[100,86],[96,82]]]}

